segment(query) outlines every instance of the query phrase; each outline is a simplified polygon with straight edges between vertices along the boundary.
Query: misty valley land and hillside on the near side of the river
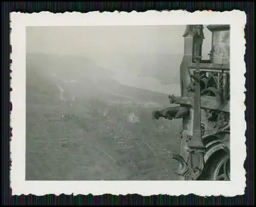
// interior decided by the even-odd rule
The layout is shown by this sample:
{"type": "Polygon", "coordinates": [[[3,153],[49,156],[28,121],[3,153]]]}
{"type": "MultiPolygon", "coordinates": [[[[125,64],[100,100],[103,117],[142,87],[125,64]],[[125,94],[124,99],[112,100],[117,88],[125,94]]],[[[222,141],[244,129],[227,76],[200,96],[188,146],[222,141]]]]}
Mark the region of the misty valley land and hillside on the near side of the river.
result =
{"type": "Polygon", "coordinates": [[[87,59],[28,55],[26,96],[26,180],[178,179],[181,120],[151,115],[167,95],[87,59]]]}

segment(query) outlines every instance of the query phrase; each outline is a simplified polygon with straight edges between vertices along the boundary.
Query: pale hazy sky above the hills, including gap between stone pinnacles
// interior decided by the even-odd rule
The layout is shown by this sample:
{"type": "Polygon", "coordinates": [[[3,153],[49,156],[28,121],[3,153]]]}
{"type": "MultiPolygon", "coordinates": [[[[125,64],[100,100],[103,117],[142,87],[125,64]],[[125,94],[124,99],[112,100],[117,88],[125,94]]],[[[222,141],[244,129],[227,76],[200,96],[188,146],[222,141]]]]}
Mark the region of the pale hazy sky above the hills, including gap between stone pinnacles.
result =
{"type": "MultiPolygon", "coordinates": [[[[184,31],[185,26],[28,27],[27,52],[182,54],[184,31]]],[[[207,55],[211,32],[205,28],[204,33],[207,55]]]]}

